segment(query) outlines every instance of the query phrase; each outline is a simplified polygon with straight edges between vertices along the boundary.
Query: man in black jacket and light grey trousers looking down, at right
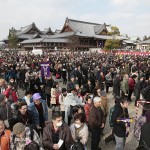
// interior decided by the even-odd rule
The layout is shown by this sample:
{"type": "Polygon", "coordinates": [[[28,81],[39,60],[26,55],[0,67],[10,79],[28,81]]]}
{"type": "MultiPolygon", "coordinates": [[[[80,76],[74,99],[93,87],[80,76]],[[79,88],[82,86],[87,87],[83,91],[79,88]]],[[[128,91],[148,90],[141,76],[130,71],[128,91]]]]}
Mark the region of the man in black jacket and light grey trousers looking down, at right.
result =
{"type": "Polygon", "coordinates": [[[114,127],[114,135],[116,140],[115,150],[123,150],[125,146],[126,133],[129,130],[129,124],[121,120],[129,118],[128,101],[126,98],[121,98],[117,102],[112,113],[112,123],[114,127]],[[119,121],[118,121],[119,120],[119,121]]]}

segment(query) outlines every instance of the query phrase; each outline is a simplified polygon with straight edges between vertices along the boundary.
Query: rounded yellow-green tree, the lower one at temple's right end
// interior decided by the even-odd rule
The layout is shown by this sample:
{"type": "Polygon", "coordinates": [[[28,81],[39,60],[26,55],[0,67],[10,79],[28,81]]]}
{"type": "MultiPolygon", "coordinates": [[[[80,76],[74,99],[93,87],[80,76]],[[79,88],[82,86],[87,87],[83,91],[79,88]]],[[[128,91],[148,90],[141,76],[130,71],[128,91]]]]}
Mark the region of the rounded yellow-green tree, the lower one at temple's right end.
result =
{"type": "Polygon", "coordinates": [[[116,39],[108,39],[105,42],[104,49],[112,50],[120,47],[120,41],[116,39]]]}

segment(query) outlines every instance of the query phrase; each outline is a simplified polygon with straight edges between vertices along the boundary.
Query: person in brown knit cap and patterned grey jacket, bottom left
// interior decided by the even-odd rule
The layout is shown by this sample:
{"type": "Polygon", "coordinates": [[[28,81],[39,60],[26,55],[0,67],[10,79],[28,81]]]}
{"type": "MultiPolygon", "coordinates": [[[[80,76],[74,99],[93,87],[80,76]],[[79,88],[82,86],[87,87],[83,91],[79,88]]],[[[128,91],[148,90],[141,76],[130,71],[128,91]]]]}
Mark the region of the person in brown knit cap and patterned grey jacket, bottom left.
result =
{"type": "Polygon", "coordinates": [[[35,141],[42,148],[42,142],[37,132],[22,123],[16,123],[13,126],[13,132],[10,137],[10,150],[24,150],[25,146],[35,141]]]}

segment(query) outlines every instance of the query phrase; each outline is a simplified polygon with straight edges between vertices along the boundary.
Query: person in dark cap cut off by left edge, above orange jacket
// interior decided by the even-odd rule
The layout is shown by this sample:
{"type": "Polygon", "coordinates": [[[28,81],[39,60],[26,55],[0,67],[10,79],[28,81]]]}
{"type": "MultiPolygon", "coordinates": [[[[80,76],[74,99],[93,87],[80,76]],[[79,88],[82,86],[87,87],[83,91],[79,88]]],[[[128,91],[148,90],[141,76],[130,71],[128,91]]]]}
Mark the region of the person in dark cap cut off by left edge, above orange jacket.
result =
{"type": "Polygon", "coordinates": [[[0,94],[0,120],[7,120],[10,117],[10,103],[4,94],[0,94]]]}

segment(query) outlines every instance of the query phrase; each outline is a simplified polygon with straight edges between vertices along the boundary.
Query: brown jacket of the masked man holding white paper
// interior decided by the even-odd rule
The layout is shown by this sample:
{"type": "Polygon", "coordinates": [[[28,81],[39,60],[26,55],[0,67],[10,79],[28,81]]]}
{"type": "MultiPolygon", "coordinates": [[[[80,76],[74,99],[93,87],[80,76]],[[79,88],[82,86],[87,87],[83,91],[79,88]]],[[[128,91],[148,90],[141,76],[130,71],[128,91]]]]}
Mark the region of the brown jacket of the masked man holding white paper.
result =
{"type": "MultiPolygon", "coordinates": [[[[63,144],[59,150],[70,150],[71,145],[73,144],[73,139],[71,136],[71,131],[69,126],[63,122],[62,126],[59,127],[59,139],[63,140],[63,144]]],[[[43,145],[47,150],[53,150],[53,132],[54,127],[53,123],[50,121],[43,130],[43,145]]]]}

